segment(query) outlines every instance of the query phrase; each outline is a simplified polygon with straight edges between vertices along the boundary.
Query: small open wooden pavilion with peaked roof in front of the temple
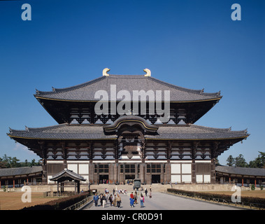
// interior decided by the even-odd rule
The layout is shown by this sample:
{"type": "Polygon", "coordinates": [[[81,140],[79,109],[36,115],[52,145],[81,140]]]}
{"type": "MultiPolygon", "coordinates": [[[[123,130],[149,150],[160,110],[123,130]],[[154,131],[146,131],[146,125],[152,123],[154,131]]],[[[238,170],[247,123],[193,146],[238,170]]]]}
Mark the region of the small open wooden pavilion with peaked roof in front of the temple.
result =
{"type": "Polygon", "coordinates": [[[55,174],[52,176],[50,181],[57,181],[57,192],[59,193],[59,183],[61,183],[61,193],[64,192],[64,183],[66,181],[74,181],[75,182],[75,193],[80,193],[80,181],[86,181],[83,176],[72,172],[69,169],[64,169],[62,172],[55,174]]]}

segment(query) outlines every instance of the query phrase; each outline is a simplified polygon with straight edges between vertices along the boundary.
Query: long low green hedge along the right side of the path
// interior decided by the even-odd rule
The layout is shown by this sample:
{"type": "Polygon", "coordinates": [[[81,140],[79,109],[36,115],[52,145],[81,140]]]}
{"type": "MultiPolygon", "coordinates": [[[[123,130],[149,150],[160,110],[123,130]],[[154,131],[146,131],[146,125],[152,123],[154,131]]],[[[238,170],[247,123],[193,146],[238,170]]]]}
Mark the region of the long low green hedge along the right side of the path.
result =
{"type": "MultiPolygon", "coordinates": [[[[215,193],[203,193],[203,192],[195,192],[195,191],[187,191],[187,190],[178,190],[178,189],[173,189],[173,188],[168,188],[167,191],[169,193],[180,193],[187,195],[189,197],[208,197],[210,200],[215,199],[220,199],[220,200],[225,200],[229,202],[230,204],[234,204],[234,202],[231,201],[231,195],[220,195],[220,194],[215,194],[215,193]]],[[[265,208],[265,199],[264,198],[259,198],[259,197],[242,197],[241,196],[241,203],[248,205],[248,204],[259,204],[259,207],[265,208]]]]}

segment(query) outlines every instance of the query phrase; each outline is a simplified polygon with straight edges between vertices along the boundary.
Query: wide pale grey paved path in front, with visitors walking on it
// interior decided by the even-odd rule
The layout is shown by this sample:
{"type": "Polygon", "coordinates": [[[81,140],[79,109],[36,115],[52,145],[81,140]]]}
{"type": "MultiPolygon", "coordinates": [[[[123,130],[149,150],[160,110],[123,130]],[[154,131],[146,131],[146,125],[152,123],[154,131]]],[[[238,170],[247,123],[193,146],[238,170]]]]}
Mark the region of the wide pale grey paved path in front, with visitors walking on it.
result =
{"type": "MultiPolygon", "coordinates": [[[[152,193],[152,198],[145,197],[144,208],[140,207],[140,201],[131,208],[129,205],[129,194],[120,195],[122,198],[121,208],[110,207],[110,203],[103,207],[93,206],[84,210],[238,210],[222,204],[192,200],[186,197],[168,195],[165,193],[152,193]]],[[[99,203],[100,204],[100,203],[99,203]]]]}

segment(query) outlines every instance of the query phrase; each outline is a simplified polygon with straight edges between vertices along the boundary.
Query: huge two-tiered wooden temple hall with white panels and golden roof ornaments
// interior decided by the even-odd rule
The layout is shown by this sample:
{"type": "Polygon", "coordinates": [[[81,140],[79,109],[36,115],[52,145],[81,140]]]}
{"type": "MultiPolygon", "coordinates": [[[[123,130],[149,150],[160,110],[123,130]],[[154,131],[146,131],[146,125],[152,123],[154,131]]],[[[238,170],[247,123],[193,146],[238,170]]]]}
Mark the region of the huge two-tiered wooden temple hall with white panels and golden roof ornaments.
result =
{"type": "Polygon", "coordinates": [[[108,71],[73,87],[36,90],[58,125],[10,129],[11,139],[43,159],[43,182],[69,169],[92,184],[215,183],[215,159],[249,136],[194,124],[222,99],[220,92],[165,83],[149,69],[134,76],[108,71]]]}

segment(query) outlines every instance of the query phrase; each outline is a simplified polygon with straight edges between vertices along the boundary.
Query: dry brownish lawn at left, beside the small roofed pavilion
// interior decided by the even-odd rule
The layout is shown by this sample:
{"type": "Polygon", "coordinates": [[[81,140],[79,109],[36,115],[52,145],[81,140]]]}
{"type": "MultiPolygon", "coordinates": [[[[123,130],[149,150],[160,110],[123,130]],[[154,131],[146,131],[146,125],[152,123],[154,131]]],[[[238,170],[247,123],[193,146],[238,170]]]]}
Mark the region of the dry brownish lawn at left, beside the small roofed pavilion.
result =
{"type": "Polygon", "coordinates": [[[31,193],[31,202],[24,203],[21,200],[22,194],[23,192],[0,192],[0,210],[18,210],[57,199],[57,197],[43,197],[43,193],[31,193]]]}

